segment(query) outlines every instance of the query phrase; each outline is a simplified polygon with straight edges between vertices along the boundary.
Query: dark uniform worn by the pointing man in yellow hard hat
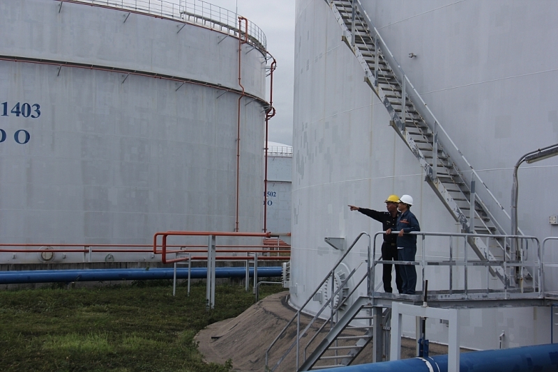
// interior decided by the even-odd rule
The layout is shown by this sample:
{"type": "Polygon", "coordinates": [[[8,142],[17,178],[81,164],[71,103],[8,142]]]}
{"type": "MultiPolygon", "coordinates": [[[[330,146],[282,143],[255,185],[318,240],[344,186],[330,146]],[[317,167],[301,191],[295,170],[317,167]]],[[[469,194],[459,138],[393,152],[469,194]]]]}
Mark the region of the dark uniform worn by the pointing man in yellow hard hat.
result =
{"type": "MultiPolygon", "coordinates": [[[[392,230],[395,229],[395,223],[397,222],[398,215],[393,217],[390,212],[379,212],[373,209],[359,208],[359,212],[363,215],[367,215],[375,219],[378,222],[382,222],[382,230],[386,231],[388,228],[392,230]]],[[[384,242],[382,243],[382,260],[383,261],[398,261],[398,249],[397,249],[397,235],[386,235],[384,234],[384,242]]],[[[395,265],[395,285],[399,293],[402,293],[402,279],[399,273],[399,265],[395,265]]],[[[382,281],[384,281],[384,291],[386,293],[391,293],[393,290],[391,288],[391,264],[384,264],[382,281]]]]}

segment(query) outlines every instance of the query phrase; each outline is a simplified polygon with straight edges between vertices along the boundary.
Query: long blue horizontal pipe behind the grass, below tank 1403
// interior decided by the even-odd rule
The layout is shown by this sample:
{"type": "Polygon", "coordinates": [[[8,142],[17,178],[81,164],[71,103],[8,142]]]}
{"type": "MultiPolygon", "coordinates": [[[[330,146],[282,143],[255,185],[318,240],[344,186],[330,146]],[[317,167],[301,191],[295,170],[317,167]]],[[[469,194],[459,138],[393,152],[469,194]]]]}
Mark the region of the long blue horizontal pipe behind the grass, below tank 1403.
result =
{"type": "MultiPolygon", "coordinates": [[[[190,269],[190,278],[207,277],[207,268],[190,269]]],[[[147,280],[172,279],[172,268],[148,269],[84,269],[84,270],[25,270],[0,272],[0,284],[54,283],[56,281],[110,281],[110,280],[147,280]]],[[[254,268],[250,268],[250,277],[254,276],[254,268]]],[[[280,277],[282,268],[264,267],[257,269],[258,277],[280,277]]],[[[216,278],[246,277],[246,268],[216,268],[216,278]]],[[[176,269],[176,279],[188,279],[187,268],[176,269]]]]}

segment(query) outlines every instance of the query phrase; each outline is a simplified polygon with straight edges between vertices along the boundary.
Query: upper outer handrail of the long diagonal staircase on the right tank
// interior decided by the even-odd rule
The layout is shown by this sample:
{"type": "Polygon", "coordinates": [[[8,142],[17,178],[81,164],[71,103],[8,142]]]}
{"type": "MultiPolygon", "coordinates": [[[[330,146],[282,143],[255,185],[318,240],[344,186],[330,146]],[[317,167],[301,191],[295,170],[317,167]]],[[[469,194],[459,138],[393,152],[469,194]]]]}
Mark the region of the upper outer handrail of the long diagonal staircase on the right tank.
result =
{"type": "MultiPolygon", "coordinates": [[[[332,0],[326,0],[326,1],[328,3],[330,3],[330,1],[332,1],[332,0]]],[[[360,12],[363,15],[365,15],[364,21],[367,23],[368,28],[373,30],[373,32],[375,33],[375,36],[377,36],[379,42],[381,42],[381,44],[382,44],[381,49],[384,52],[384,58],[389,60],[388,62],[390,63],[390,65],[396,65],[397,66],[397,71],[393,71],[393,72],[394,72],[395,76],[398,78],[398,82],[402,82],[402,80],[405,79],[405,82],[407,84],[409,84],[409,86],[411,86],[412,91],[414,92],[414,94],[416,95],[418,100],[420,100],[421,104],[415,105],[416,111],[418,111],[418,113],[421,114],[425,123],[428,125],[428,127],[430,127],[430,130],[432,130],[432,133],[437,133],[437,130],[439,130],[439,131],[442,132],[442,134],[444,134],[444,137],[447,139],[448,143],[451,144],[451,146],[449,146],[449,147],[444,147],[444,150],[446,150],[448,152],[448,155],[450,155],[451,159],[453,159],[454,161],[457,161],[457,162],[459,162],[459,160],[460,160],[460,163],[462,163],[461,165],[465,165],[465,166],[460,166],[458,168],[460,173],[461,173],[460,176],[464,180],[467,180],[469,182],[469,185],[470,185],[470,182],[472,180],[471,178],[474,175],[474,177],[478,181],[477,185],[478,184],[482,185],[482,187],[477,187],[477,189],[476,189],[476,193],[480,194],[480,195],[476,195],[476,198],[481,199],[484,206],[486,206],[486,208],[487,208],[486,212],[490,213],[491,220],[495,224],[495,226],[497,227],[499,232],[504,233],[504,234],[510,233],[511,232],[510,231],[511,226],[502,226],[502,219],[504,219],[506,222],[510,221],[510,223],[511,223],[511,217],[510,217],[510,215],[508,215],[508,212],[506,212],[506,210],[504,209],[502,204],[499,203],[499,201],[496,199],[494,194],[492,194],[490,189],[488,189],[488,186],[483,182],[483,180],[478,175],[478,173],[475,171],[473,166],[469,163],[469,161],[461,153],[461,150],[459,150],[459,148],[455,145],[453,140],[448,136],[448,133],[446,132],[446,130],[444,129],[442,124],[438,121],[436,116],[432,113],[432,111],[430,110],[430,107],[428,107],[428,105],[423,100],[421,95],[418,93],[418,91],[416,91],[416,88],[414,87],[412,82],[409,80],[409,77],[407,77],[407,75],[403,71],[401,65],[398,63],[397,59],[395,59],[395,56],[393,56],[393,54],[391,53],[391,50],[387,46],[386,42],[384,41],[384,39],[380,35],[379,31],[374,26],[372,20],[370,20],[370,17],[368,16],[368,13],[366,13],[366,10],[362,6],[361,0],[352,0],[352,1],[353,1],[353,3],[355,3],[359,7],[360,12]],[[434,121],[433,123],[429,122],[425,119],[426,117],[428,117],[427,114],[430,115],[430,117],[434,121]],[[471,171],[469,177],[466,176],[466,173],[465,173],[464,169],[469,169],[471,171]]],[[[474,208],[474,206],[472,206],[472,208],[474,208]]]]}

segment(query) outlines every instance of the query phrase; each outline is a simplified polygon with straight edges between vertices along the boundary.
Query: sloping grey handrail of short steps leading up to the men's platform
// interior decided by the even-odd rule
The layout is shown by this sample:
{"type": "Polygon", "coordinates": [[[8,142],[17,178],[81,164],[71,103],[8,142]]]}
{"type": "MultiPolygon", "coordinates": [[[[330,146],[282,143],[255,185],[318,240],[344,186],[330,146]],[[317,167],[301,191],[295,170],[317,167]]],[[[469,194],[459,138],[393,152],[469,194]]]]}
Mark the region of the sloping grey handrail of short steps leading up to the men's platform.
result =
{"type": "MultiPolygon", "coordinates": [[[[278,336],[276,336],[276,338],[273,340],[273,342],[271,342],[271,345],[267,348],[266,350],[266,369],[269,369],[269,351],[271,350],[271,348],[273,348],[273,346],[275,346],[275,344],[277,343],[277,341],[281,338],[281,336],[283,334],[285,334],[285,332],[287,332],[287,328],[292,325],[292,323],[294,322],[294,320],[296,318],[299,318],[303,309],[306,308],[306,305],[308,303],[310,303],[310,301],[312,300],[312,298],[314,297],[314,295],[318,292],[319,288],[322,288],[322,286],[326,283],[327,280],[329,280],[329,277],[331,275],[332,272],[335,272],[335,270],[339,267],[339,265],[342,263],[342,261],[345,259],[345,257],[349,254],[349,252],[352,250],[352,248],[356,245],[356,242],[358,242],[363,235],[368,236],[368,256],[370,257],[370,235],[365,232],[362,231],[361,233],[359,233],[359,235],[356,236],[356,238],[354,239],[354,241],[351,243],[351,245],[349,245],[349,247],[347,247],[347,250],[345,251],[345,254],[343,254],[341,256],[341,258],[339,258],[339,260],[337,261],[337,263],[335,263],[335,265],[333,266],[333,268],[327,273],[326,277],[324,277],[324,279],[322,280],[322,282],[316,287],[316,289],[314,290],[314,292],[312,292],[312,294],[308,297],[308,300],[306,300],[306,302],[304,302],[304,304],[299,308],[298,311],[296,311],[296,313],[294,314],[294,316],[292,317],[291,320],[289,320],[289,322],[287,323],[287,325],[285,325],[285,327],[283,327],[283,329],[281,330],[281,332],[279,332],[278,336]]],[[[370,266],[370,260],[368,260],[368,266],[370,266]]],[[[356,270],[353,270],[352,273],[349,275],[349,277],[347,277],[347,279],[345,279],[344,283],[346,283],[350,277],[352,277],[352,274],[354,274],[354,272],[356,272],[356,270]]],[[[367,271],[370,272],[370,270],[367,271]]],[[[326,304],[324,304],[324,306],[322,307],[322,309],[316,313],[316,316],[312,319],[312,321],[310,323],[308,323],[308,326],[305,328],[305,330],[303,330],[303,332],[301,332],[302,334],[306,333],[306,331],[308,330],[308,328],[310,327],[310,325],[312,325],[312,322],[322,313],[322,311],[325,309],[325,307],[327,306],[327,304],[329,304],[329,302],[332,303],[332,307],[333,307],[333,298],[335,298],[335,295],[337,295],[340,290],[342,289],[342,286],[339,286],[338,290],[335,291],[335,294],[333,296],[331,296],[331,298],[326,302],[326,304]]],[[[290,348],[285,352],[284,355],[282,355],[282,357],[279,359],[279,361],[276,363],[276,366],[273,366],[273,369],[271,369],[271,371],[275,370],[276,367],[280,364],[280,362],[282,361],[282,359],[284,359],[287,354],[289,354],[289,352],[292,350],[292,348],[294,347],[294,345],[296,343],[299,342],[300,336],[299,336],[299,330],[297,329],[297,334],[296,334],[296,340],[295,343],[293,343],[290,348]]]]}

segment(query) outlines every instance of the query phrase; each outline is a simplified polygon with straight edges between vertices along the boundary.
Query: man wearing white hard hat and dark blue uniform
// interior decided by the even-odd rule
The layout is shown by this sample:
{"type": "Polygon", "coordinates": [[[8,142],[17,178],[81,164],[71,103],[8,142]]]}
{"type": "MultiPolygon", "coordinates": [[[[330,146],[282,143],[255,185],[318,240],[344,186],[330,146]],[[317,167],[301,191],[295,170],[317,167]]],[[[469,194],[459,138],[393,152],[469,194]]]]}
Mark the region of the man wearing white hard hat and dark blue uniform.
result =
{"type": "MultiPolygon", "coordinates": [[[[401,212],[395,224],[393,231],[399,231],[397,237],[397,251],[399,261],[414,261],[416,255],[416,235],[412,235],[413,231],[421,231],[418,219],[413,215],[410,208],[413,205],[413,198],[409,195],[403,195],[398,201],[398,210],[401,212]]],[[[386,231],[386,233],[391,233],[386,231]]],[[[401,274],[402,293],[405,295],[414,295],[416,287],[416,268],[414,265],[399,265],[401,274]]]]}

